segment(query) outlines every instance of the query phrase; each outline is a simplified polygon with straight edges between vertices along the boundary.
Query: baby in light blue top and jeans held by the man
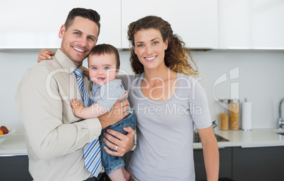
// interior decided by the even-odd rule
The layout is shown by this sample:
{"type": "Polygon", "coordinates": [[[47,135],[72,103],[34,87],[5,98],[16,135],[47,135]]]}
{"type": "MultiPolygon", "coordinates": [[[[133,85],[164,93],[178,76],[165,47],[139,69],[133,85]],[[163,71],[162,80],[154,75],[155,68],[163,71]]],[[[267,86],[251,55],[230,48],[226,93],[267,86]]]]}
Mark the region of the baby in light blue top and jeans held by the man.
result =
{"type": "MultiPolygon", "coordinates": [[[[90,80],[93,81],[93,100],[94,104],[88,108],[78,101],[73,99],[71,101],[71,107],[73,114],[79,118],[97,118],[108,111],[120,99],[126,90],[122,85],[122,80],[115,78],[119,73],[119,53],[117,49],[110,44],[99,44],[95,46],[88,55],[88,66],[90,80]]],[[[118,132],[127,134],[123,130],[123,127],[136,128],[136,116],[130,113],[129,116],[120,120],[118,123],[106,127],[102,130],[100,136],[100,148],[102,154],[102,165],[105,167],[105,173],[110,177],[110,180],[129,180],[129,173],[124,169],[124,161],[117,156],[111,156],[107,154],[103,142],[103,133],[107,129],[112,129],[118,132]]],[[[110,148],[109,148],[110,149],[110,148]]],[[[112,149],[111,149],[112,150],[112,149]]],[[[112,150],[114,151],[114,150],[112,150]]]]}

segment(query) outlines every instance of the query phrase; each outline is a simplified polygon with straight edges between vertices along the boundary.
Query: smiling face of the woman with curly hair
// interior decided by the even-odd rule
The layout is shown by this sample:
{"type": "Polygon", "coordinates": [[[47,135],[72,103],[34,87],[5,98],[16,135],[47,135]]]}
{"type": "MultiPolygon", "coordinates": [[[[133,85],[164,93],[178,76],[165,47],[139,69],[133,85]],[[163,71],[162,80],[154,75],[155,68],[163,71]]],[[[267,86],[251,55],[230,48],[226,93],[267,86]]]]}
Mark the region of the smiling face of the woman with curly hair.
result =
{"type": "Polygon", "coordinates": [[[159,30],[150,28],[139,30],[134,34],[134,51],[139,61],[143,64],[144,70],[150,70],[165,66],[166,42],[162,41],[159,30]]]}

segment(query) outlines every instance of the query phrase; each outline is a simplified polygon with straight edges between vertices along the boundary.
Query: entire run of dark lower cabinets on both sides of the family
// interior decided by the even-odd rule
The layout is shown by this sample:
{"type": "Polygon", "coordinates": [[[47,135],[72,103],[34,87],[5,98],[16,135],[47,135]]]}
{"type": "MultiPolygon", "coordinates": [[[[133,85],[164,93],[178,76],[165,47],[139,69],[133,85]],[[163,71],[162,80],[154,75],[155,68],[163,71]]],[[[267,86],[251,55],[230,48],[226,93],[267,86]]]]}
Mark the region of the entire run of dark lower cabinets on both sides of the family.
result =
{"type": "MultiPolygon", "coordinates": [[[[127,169],[133,151],[122,158],[127,169]]],[[[283,181],[284,146],[227,147],[219,149],[219,180],[283,181]]],[[[206,180],[203,150],[194,149],[196,181],[206,180]]],[[[1,181],[32,181],[28,172],[28,156],[0,156],[1,181]]]]}

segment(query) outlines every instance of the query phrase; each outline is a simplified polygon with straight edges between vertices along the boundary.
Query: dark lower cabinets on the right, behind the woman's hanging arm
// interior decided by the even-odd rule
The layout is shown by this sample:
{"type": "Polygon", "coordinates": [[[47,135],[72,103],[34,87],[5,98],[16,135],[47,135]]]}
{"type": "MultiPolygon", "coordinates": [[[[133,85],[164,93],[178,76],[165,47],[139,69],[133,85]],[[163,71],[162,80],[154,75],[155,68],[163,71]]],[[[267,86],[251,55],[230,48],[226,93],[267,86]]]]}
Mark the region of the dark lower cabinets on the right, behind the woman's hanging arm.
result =
{"type": "MultiPolygon", "coordinates": [[[[219,149],[219,180],[283,181],[284,146],[219,149]]],[[[194,150],[196,181],[206,180],[202,149],[194,150]]]]}

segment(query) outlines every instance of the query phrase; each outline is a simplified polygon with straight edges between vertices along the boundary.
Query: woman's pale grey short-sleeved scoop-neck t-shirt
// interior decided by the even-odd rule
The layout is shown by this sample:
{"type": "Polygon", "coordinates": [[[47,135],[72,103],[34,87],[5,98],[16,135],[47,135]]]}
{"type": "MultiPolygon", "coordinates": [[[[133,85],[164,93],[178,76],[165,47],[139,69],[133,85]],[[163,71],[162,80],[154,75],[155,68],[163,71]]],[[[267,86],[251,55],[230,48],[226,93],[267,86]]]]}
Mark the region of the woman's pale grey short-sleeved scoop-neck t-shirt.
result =
{"type": "Polygon", "coordinates": [[[212,125],[206,92],[193,77],[177,73],[177,90],[167,101],[141,92],[141,75],[119,75],[137,118],[137,144],[129,170],[139,180],[194,181],[193,124],[212,125]]]}

